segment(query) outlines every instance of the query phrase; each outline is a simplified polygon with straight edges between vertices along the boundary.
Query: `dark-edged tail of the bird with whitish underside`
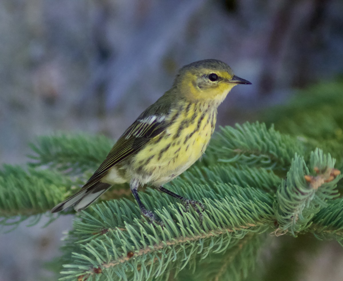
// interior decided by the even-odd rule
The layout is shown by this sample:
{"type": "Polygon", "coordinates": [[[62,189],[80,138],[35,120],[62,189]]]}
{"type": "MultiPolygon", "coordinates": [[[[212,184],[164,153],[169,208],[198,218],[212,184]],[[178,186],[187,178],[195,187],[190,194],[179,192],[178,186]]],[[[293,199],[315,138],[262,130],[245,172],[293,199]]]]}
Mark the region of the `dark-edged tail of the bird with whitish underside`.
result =
{"type": "Polygon", "coordinates": [[[74,195],[52,208],[51,213],[62,211],[71,206],[74,206],[75,211],[79,212],[92,204],[110,187],[110,184],[99,181],[90,186],[87,186],[86,184],[79,192],[76,192],[74,195]]]}

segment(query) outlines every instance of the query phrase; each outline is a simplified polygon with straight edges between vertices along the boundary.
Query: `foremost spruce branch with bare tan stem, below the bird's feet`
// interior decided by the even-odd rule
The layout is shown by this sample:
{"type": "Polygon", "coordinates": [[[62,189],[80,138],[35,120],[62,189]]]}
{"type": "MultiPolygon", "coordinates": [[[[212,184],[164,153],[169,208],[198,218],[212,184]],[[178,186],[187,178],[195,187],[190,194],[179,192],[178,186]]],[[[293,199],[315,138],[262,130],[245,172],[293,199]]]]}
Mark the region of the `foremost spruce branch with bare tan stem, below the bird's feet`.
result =
{"type": "MultiPolygon", "coordinates": [[[[67,276],[61,280],[73,280],[80,276],[98,280],[96,272],[106,273],[107,278],[111,276],[122,280],[157,278],[171,267],[182,269],[197,253],[206,257],[210,252],[225,251],[234,239],[242,239],[252,232],[265,232],[269,228],[273,221],[271,196],[252,188],[224,184],[221,188],[228,194],[236,192],[241,196],[237,198],[232,195],[222,200],[204,199],[206,211],[203,226],[199,226],[195,212],[185,213],[179,203],[163,205],[160,198],[156,198],[159,206],[155,213],[165,223],[163,228],[148,224],[144,218],[139,220],[134,215],[122,220],[120,216],[125,212],[122,207],[127,201],[95,205],[99,218],[84,212],[85,221],[75,221],[74,225],[75,231],[83,233],[82,243],[87,240],[85,235],[89,237],[88,243],[80,244],[88,255],[74,253],[74,264],[68,265],[68,270],[62,272],[67,276]],[[122,212],[117,215],[109,210],[122,212]],[[115,217],[114,220],[111,217],[115,217]],[[119,222],[121,224],[118,225],[119,222]],[[94,237],[94,233],[98,236],[94,237]],[[132,279],[128,277],[130,274],[133,274],[132,279]]],[[[151,192],[155,193],[154,197],[165,197],[155,190],[151,192]]],[[[142,196],[145,202],[151,197],[142,196]]],[[[135,209],[138,213],[138,207],[135,209]]]]}

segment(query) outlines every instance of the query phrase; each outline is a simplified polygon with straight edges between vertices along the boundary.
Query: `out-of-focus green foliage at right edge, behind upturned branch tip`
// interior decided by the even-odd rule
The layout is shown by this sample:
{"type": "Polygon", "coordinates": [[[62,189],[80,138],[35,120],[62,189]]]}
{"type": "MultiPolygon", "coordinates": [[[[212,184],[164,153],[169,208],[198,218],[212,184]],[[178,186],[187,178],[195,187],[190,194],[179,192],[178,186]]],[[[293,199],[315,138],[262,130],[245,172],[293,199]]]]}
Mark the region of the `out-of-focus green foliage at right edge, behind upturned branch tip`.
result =
{"type": "MultiPolygon", "coordinates": [[[[320,147],[330,153],[336,158],[336,168],[342,170],[342,89],[342,81],[331,81],[297,90],[286,104],[263,110],[262,119],[282,133],[301,138],[309,151],[320,147]]],[[[339,184],[342,189],[343,183],[339,184]]]]}

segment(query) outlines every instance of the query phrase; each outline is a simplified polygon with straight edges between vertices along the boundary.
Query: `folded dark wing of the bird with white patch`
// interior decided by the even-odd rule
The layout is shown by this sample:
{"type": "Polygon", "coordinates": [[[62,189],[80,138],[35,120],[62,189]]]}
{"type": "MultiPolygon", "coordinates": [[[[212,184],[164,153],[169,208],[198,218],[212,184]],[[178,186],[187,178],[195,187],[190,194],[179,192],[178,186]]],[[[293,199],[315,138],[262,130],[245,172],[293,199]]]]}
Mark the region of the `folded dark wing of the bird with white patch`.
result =
{"type": "Polygon", "coordinates": [[[149,114],[146,111],[142,113],[118,139],[86,185],[98,181],[111,167],[139,151],[151,138],[161,134],[167,127],[165,118],[166,115],[163,113],[149,114]]]}

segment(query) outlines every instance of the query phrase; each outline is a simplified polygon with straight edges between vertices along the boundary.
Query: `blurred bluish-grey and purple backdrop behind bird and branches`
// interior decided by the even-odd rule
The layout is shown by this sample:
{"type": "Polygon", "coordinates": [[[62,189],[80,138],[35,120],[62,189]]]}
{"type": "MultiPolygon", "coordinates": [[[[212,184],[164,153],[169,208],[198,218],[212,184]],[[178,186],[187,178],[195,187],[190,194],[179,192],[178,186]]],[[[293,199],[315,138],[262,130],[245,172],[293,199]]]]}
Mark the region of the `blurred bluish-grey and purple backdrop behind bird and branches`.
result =
{"type": "MultiPolygon", "coordinates": [[[[298,89],[342,80],[343,1],[2,0],[0,163],[25,163],[35,136],[59,130],[118,138],[181,66],[206,58],[252,82],[230,92],[218,124],[257,120],[298,89]]],[[[44,263],[72,218],[1,234],[0,281],[54,280],[44,263]]],[[[342,280],[341,246],[319,248],[293,257],[301,280],[342,280]]]]}

